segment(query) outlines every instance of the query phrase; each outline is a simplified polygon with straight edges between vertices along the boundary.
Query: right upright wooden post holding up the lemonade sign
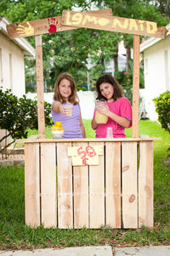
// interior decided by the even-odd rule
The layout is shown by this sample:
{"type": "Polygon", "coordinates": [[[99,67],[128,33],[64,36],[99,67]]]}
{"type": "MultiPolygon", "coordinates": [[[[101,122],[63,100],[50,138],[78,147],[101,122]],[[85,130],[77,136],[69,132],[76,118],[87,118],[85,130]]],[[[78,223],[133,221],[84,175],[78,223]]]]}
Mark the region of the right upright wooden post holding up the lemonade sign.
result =
{"type": "Polygon", "coordinates": [[[139,48],[140,37],[133,36],[133,138],[139,137],[139,48]]]}

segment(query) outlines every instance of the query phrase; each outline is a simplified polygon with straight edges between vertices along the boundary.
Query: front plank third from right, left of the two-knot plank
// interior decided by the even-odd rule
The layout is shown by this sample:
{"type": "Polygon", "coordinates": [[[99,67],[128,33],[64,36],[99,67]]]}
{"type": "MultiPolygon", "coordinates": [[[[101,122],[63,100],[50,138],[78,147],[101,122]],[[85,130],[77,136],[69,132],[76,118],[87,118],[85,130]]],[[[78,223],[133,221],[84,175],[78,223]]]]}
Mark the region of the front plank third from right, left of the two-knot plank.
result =
{"type": "Polygon", "coordinates": [[[105,143],[106,225],[121,228],[121,142],[105,143]]]}

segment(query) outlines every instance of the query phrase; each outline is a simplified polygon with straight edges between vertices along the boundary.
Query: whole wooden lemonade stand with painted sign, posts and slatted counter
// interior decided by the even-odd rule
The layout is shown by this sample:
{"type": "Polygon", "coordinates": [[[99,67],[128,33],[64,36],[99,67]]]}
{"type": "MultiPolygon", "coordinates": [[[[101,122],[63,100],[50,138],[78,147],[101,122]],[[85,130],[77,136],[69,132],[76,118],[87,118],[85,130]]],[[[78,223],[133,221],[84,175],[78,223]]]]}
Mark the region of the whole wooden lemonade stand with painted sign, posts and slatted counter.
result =
{"type": "MultiPolygon", "coordinates": [[[[114,17],[111,9],[64,10],[53,19],[53,27],[49,19],[7,26],[10,38],[36,37],[38,138],[25,142],[26,225],[153,227],[153,141],[159,138],[139,137],[139,36],[165,38],[167,30],[114,17]],[[133,34],[133,138],[45,139],[42,34],[80,27],[133,34]]],[[[52,131],[63,132],[59,123],[52,131]]]]}

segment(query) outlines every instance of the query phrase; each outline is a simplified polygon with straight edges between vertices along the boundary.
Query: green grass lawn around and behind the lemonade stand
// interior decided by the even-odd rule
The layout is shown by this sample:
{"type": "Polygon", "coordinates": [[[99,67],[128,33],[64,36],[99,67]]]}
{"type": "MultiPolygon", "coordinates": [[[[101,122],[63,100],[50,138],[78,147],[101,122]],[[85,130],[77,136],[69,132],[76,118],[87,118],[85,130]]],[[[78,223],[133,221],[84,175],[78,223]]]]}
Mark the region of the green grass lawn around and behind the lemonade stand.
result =
{"type": "MultiPolygon", "coordinates": [[[[83,120],[88,138],[94,137],[89,120],[83,120]]],[[[32,132],[29,131],[31,135],[32,132]]],[[[37,134],[37,131],[33,131],[37,134]]],[[[127,129],[131,137],[132,129],[127,129]]],[[[0,249],[39,247],[74,247],[85,245],[144,246],[170,245],[170,164],[164,163],[170,134],[161,129],[157,122],[140,121],[139,134],[151,138],[161,137],[154,142],[154,219],[153,229],[138,230],[59,230],[31,229],[25,225],[24,168],[0,166],[0,249]]],[[[52,138],[46,128],[46,137],[52,138]]]]}

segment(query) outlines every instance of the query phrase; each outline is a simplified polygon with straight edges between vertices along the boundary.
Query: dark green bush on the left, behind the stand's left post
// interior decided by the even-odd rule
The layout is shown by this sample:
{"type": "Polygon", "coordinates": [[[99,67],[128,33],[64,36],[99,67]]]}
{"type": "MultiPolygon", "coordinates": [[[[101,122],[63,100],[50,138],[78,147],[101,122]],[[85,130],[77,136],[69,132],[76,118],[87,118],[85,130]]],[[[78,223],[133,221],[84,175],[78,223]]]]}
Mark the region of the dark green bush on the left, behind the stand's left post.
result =
{"type": "MultiPolygon", "coordinates": [[[[27,138],[27,128],[37,129],[37,100],[27,99],[26,95],[18,98],[10,89],[3,91],[0,88],[0,102],[0,128],[8,130],[0,143],[10,136],[13,139],[11,145],[15,139],[27,138]]],[[[47,102],[44,102],[44,112],[45,123],[49,126],[52,124],[51,105],[47,102]]]]}

